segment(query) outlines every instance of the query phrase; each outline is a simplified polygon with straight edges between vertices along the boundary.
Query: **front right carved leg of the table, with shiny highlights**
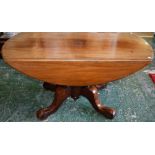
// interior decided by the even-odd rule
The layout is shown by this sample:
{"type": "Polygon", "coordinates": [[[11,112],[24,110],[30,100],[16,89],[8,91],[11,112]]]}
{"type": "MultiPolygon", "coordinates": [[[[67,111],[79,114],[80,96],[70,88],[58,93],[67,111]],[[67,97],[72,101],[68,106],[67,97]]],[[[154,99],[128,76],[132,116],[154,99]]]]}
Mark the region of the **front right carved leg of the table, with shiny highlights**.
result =
{"type": "Polygon", "coordinates": [[[101,104],[96,86],[84,87],[81,90],[81,95],[86,97],[92,106],[105,117],[110,119],[114,118],[116,114],[115,110],[101,104]]]}

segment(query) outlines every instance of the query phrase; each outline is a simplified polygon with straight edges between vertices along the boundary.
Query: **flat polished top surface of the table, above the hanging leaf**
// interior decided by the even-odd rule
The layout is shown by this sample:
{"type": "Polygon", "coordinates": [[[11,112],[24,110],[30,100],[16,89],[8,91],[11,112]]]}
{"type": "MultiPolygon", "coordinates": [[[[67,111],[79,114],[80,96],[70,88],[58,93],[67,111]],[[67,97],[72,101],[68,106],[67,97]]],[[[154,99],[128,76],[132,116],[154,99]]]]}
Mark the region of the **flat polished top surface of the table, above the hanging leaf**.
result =
{"type": "Polygon", "coordinates": [[[151,47],[128,33],[21,33],[4,46],[6,59],[148,60],[151,47]]]}

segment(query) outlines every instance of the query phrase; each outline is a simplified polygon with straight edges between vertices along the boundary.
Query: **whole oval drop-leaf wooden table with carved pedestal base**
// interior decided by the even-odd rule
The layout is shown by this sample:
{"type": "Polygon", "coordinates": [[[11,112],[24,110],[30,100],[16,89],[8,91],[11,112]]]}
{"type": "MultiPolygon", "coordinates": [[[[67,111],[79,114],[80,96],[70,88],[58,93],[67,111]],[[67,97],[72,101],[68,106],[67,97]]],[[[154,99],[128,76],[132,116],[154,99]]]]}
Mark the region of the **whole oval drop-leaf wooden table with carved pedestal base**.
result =
{"type": "Polygon", "coordinates": [[[131,33],[20,33],[2,49],[4,61],[23,74],[44,81],[53,103],[37,111],[46,119],[71,96],[86,97],[107,118],[116,114],[101,104],[102,84],[128,76],[153,58],[153,50],[131,33]]]}

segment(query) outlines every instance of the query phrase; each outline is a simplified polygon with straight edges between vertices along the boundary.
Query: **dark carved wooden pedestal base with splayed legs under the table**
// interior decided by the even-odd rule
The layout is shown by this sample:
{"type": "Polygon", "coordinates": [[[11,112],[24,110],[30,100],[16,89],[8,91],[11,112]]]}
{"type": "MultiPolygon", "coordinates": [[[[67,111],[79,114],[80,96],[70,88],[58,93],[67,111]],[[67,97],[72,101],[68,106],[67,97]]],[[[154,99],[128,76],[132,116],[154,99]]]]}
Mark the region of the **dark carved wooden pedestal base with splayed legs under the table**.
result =
{"type": "Polygon", "coordinates": [[[50,106],[37,111],[37,118],[39,118],[40,120],[44,120],[49,115],[56,112],[58,108],[62,105],[62,103],[67,99],[67,97],[70,96],[74,100],[77,100],[80,97],[80,95],[86,97],[92,104],[92,106],[95,108],[95,110],[103,114],[106,118],[112,119],[116,114],[113,108],[106,107],[100,101],[98,90],[103,89],[105,85],[67,87],[60,85],[52,85],[47,82],[44,82],[43,87],[46,90],[54,91],[55,96],[50,106]]]}

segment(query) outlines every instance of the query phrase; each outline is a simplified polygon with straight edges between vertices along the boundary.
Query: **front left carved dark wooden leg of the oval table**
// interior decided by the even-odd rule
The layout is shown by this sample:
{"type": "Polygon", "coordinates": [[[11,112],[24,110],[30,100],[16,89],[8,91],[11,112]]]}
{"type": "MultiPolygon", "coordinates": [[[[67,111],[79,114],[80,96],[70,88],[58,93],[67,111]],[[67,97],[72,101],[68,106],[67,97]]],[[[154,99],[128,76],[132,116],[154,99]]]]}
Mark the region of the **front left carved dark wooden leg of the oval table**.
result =
{"type": "Polygon", "coordinates": [[[47,108],[37,111],[37,117],[41,120],[46,119],[50,114],[56,112],[61,104],[70,96],[70,89],[65,86],[56,86],[53,103],[47,108]]]}

